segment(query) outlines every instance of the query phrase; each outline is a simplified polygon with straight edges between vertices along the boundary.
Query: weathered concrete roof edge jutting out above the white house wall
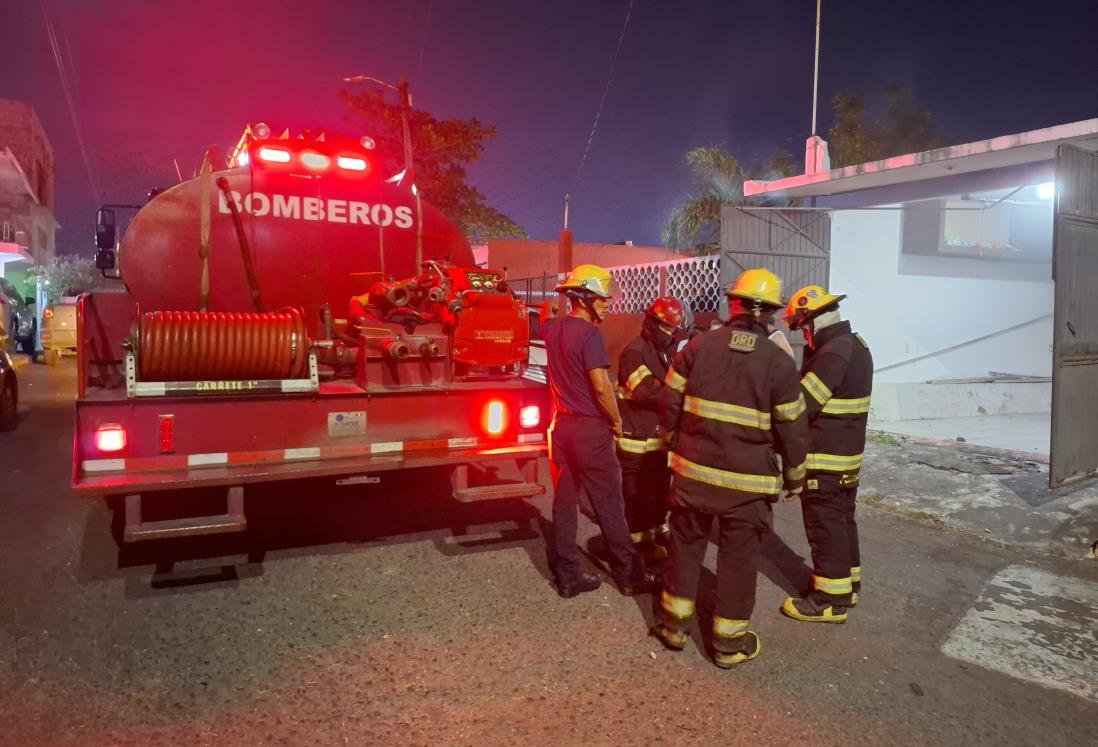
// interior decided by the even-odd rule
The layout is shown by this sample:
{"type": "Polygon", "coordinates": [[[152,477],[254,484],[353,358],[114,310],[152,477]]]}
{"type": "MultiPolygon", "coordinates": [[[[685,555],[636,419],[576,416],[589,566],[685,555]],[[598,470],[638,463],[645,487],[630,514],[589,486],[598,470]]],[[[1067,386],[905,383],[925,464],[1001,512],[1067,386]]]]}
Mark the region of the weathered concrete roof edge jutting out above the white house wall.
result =
{"type": "Polygon", "coordinates": [[[1017,135],[910,153],[869,164],[804,174],[774,181],[743,182],[744,197],[822,197],[911,181],[1035,164],[1056,157],[1063,144],[1098,150],[1098,119],[1033,130],[1017,135]]]}

